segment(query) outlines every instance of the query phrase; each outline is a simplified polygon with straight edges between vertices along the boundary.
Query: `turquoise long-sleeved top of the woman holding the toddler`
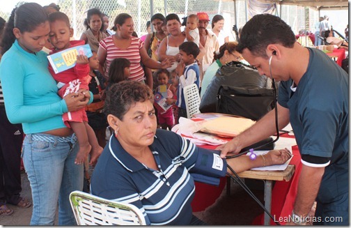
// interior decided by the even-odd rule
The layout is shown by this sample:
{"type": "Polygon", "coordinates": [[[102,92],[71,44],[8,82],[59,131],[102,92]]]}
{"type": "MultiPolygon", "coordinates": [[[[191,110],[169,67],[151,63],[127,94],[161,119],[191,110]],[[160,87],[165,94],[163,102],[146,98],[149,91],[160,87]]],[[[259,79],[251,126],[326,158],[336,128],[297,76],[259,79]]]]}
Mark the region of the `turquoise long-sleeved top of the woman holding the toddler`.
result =
{"type": "MultiPolygon", "coordinates": [[[[47,66],[45,52],[26,52],[17,40],[1,58],[6,114],[11,123],[22,123],[25,134],[66,128],[62,114],[68,112],[68,107],[59,97],[47,66]]],[[[91,94],[89,102],[92,100],[91,94]]]]}

